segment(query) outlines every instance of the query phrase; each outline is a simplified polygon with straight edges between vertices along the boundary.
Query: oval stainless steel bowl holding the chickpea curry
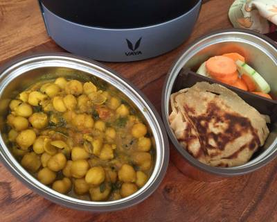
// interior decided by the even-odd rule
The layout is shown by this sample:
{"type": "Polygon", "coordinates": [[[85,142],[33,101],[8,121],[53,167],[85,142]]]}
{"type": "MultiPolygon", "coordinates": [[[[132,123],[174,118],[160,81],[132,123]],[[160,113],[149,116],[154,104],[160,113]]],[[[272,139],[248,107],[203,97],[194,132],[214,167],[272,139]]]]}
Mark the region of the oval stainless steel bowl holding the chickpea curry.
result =
{"type": "Polygon", "coordinates": [[[163,123],[153,105],[148,99],[145,99],[145,96],[139,89],[134,87],[132,83],[121,78],[107,67],[103,67],[99,63],[91,60],[72,56],[67,53],[51,53],[23,58],[6,65],[6,67],[3,67],[0,71],[0,116],[1,162],[3,162],[19,180],[30,187],[30,189],[33,189],[48,200],[65,205],[66,207],[102,212],[120,210],[132,206],[150,196],[150,194],[157,189],[168,167],[169,151],[166,130],[163,128],[163,123]],[[28,171],[21,167],[4,142],[4,127],[6,124],[5,118],[8,112],[8,103],[15,94],[26,86],[35,83],[43,76],[48,76],[48,78],[69,76],[72,78],[77,74],[79,77],[96,76],[113,85],[136,104],[136,107],[141,111],[145,120],[148,121],[156,142],[156,160],[154,161],[152,176],[148,182],[139,189],[139,191],[132,194],[132,196],[114,201],[93,202],[60,194],[50,187],[42,185],[42,183],[31,176],[28,171]]]}

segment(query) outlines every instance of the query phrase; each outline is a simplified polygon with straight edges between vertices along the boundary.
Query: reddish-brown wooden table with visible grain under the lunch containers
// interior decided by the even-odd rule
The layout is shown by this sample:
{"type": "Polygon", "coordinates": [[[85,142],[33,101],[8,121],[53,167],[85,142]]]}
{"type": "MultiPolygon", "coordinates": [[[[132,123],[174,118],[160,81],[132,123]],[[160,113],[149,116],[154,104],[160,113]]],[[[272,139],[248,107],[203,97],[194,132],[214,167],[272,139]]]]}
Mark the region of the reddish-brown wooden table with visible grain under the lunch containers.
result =
{"type": "MultiPolygon", "coordinates": [[[[230,28],[233,0],[204,1],[193,35],[230,28]]],[[[188,43],[163,56],[129,63],[105,63],[128,78],[161,110],[161,88],[170,65],[188,43]]],[[[0,60],[19,53],[62,51],[46,35],[35,0],[0,1],[0,60]]],[[[159,189],[139,205],[120,212],[79,212],[42,198],[0,164],[0,221],[276,221],[277,161],[247,176],[199,182],[170,162],[159,189]]]]}

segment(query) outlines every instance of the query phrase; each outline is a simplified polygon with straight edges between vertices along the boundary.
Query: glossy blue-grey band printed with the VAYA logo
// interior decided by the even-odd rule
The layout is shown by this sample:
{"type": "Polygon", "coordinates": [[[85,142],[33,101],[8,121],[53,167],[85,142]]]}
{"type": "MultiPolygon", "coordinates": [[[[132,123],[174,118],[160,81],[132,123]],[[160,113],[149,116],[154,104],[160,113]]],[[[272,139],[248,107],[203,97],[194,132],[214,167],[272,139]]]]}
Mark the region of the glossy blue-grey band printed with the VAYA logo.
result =
{"type": "MultiPolygon", "coordinates": [[[[128,19],[127,27],[114,28],[109,23],[114,23],[117,19],[109,20],[105,26],[101,24],[91,26],[84,21],[80,24],[78,21],[68,20],[67,17],[66,19],[60,17],[51,10],[52,7],[48,8],[48,5],[44,6],[44,2],[39,2],[48,35],[57,44],[76,55],[109,62],[143,60],[175,49],[193,31],[202,4],[202,0],[197,0],[190,5],[189,10],[184,11],[184,14],[173,19],[166,19],[166,22],[150,25],[143,23],[144,26],[136,26],[134,18],[131,17],[128,19]]],[[[102,9],[104,10],[101,12],[102,17],[109,14],[105,9],[102,9]]],[[[101,10],[101,6],[99,6],[99,10],[101,10]]],[[[141,15],[147,17],[143,12],[141,15]]],[[[153,17],[152,14],[151,17],[153,17]]]]}

